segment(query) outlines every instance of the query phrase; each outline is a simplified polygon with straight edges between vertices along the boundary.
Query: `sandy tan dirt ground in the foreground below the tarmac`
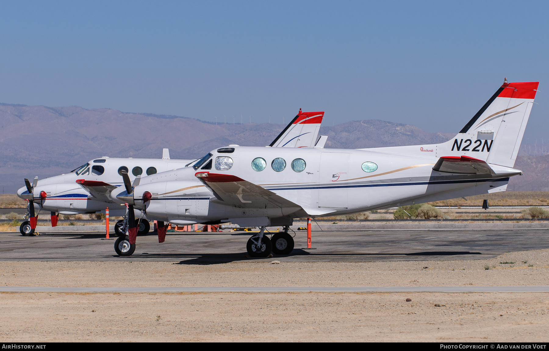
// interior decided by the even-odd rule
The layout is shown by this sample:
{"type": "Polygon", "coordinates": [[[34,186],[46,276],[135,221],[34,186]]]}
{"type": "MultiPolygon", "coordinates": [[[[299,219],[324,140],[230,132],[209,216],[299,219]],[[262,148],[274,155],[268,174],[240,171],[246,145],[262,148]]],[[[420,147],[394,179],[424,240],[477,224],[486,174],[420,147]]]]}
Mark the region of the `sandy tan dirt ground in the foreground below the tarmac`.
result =
{"type": "MultiPolygon", "coordinates": [[[[549,250],[471,261],[271,261],[4,261],[0,277],[4,286],[539,286],[549,282],[549,250]]],[[[549,294],[544,293],[0,296],[0,342],[549,341],[549,294]]]]}

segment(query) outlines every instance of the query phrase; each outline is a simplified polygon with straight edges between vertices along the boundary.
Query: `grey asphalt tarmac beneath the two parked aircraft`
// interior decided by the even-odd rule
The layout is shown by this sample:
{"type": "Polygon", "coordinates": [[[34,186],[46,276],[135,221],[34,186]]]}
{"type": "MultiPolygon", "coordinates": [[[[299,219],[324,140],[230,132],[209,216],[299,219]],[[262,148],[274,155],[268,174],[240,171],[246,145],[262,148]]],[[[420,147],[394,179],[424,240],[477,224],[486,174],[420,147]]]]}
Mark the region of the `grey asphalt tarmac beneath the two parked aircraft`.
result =
{"type": "MultiPolygon", "coordinates": [[[[43,233],[23,237],[19,232],[0,233],[1,261],[181,261],[207,264],[250,260],[245,245],[250,233],[167,233],[158,243],[153,234],[137,237],[135,254],[119,257],[114,240],[98,233],[43,233]]],[[[296,232],[295,249],[289,255],[267,260],[285,262],[363,262],[417,260],[475,260],[507,251],[549,248],[549,231],[338,231],[313,232],[306,247],[306,232],[296,232]]]]}

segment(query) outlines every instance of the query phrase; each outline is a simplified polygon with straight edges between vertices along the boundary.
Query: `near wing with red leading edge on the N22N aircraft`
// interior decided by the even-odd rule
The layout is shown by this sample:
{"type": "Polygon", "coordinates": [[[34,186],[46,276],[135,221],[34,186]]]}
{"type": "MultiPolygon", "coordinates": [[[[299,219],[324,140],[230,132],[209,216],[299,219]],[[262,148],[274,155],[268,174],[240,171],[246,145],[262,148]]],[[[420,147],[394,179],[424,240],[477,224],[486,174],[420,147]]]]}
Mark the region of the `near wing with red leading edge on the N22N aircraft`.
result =
{"type": "Polygon", "coordinates": [[[301,206],[237,176],[198,172],[195,176],[223,204],[238,208],[295,208],[301,206]]]}

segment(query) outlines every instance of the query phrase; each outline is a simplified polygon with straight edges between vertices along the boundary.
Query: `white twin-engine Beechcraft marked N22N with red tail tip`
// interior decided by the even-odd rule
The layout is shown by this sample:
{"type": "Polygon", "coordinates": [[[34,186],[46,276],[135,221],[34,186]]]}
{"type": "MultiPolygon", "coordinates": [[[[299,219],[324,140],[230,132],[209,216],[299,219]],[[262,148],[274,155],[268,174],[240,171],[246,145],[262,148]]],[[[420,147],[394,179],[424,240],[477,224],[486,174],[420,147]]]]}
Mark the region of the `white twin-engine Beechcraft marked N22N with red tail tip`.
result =
{"type": "MultiPolygon", "coordinates": [[[[135,187],[123,174],[125,186],[111,197],[158,221],[259,226],[259,234],[248,240],[250,256],[288,254],[294,246],[288,234],[293,218],[505,191],[509,177],[522,173],[513,166],[538,84],[505,80],[444,143],[367,149],[228,146],[189,167],[143,177],[135,187]],[[268,239],[268,226],[285,230],[268,239]]],[[[128,238],[115,244],[122,256],[135,250],[130,222],[128,238]]],[[[164,223],[158,227],[162,242],[164,223]]]]}

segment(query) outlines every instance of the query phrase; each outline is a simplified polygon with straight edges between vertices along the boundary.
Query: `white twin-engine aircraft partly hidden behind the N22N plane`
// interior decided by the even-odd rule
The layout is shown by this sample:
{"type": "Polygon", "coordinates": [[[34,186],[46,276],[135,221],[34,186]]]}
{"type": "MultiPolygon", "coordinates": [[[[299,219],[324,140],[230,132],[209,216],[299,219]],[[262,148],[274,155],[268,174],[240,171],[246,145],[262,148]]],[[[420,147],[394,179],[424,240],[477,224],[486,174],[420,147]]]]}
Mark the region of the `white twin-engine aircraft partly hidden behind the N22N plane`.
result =
{"type": "MultiPolygon", "coordinates": [[[[300,109],[298,115],[276,137],[271,146],[323,147],[327,136],[323,135],[317,140],[323,117],[324,112],[301,112],[300,109]]],[[[41,180],[35,177],[32,184],[25,179],[25,187],[20,188],[17,194],[29,201],[25,216],[29,220],[21,224],[20,232],[23,235],[34,233],[37,216],[41,210],[51,212],[53,227],[57,226],[59,214],[94,213],[105,211],[108,206],[110,215],[123,216],[127,214],[127,209],[119,209],[118,203],[113,208],[112,204],[115,202],[111,197],[111,191],[123,183],[122,173],[132,182],[132,186],[137,186],[144,174],[165,174],[167,170],[184,168],[195,161],[170,159],[169,150],[164,149],[161,159],[101,157],[90,160],[68,174],[41,180]]],[[[148,216],[137,209],[133,215],[140,218],[137,223],[138,233],[149,232],[148,216]]],[[[118,221],[115,231],[119,235],[126,233],[127,219],[118,221]]]]}

